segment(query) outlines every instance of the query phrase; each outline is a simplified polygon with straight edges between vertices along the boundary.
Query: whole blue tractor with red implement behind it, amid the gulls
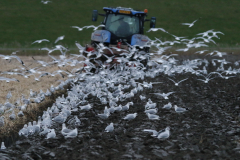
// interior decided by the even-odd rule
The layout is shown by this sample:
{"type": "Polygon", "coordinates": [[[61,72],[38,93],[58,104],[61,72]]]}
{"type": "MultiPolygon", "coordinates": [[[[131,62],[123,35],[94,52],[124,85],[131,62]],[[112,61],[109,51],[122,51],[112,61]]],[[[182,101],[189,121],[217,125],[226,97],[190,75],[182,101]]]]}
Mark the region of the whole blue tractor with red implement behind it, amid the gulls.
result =
{"type": "MultiPolygon", "coordinates": [[[[91,52],[97,52],[100,48],[100,56],[93,55],[90,58],[97,65],[96,59],[101,63],[108,64],[119,63],[120,57],[128,57],[130,61],[136,57],[133,48],[138,53],[145,54],[148,57],[150,39],[144,35],[144,23],[150,21],[150,28],[155,28],[156,17],[146,19],[148,10],[137,11],[132,8],[123,7],[103,7],[105,14],[98,13],[97,10],[92,12],[92,21],[96,22],[98,15],[104,16],[101,22],[102,29],[95,30],[91,35],[91,45],[86,46],[85,55],[91,52]],[[111,57],[108,58],[108,57],[111,57]]],[[[91,55],[91,54],[90,54],[91,55]]],[[[143,56],[142,56],[143,57],[143,56]]],[[[149,58],[140,59],[141,63],[146,66],[149,58]]]]}

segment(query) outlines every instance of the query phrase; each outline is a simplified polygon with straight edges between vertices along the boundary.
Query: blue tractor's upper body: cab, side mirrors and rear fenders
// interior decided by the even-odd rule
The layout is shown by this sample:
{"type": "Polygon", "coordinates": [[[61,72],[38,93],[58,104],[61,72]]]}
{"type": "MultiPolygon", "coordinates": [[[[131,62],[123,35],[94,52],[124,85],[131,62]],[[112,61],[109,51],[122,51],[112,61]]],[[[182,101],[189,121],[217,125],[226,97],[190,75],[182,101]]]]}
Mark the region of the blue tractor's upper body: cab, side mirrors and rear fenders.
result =
{"type": "MultiPolygon", "coordinates": [[[[143,40],[143,42],[148,41],[148,37],[144,36],[144,23],[145,21],[150,21],[146,19],[147,9],[144,11],[136,11],[132,8],[111,8],[104,7],[103,10],[105,14],[99,14],[97,10],[93,10],[92,21],[97,21],[98,15],[104,16],[104,21],[102,24],[105,27],[102,30],[95,31],[92,33],[92,41],[103,42],[106,45],[117,44],[122,42],[123,44],[139,45],[137,39],[143,40]],[[100,34],[104,34],[104,39],[96,37],[100,34]],[[138,37],[138,38],[136,38],[138,37]]],[[[155,27],[156,18],[151,18],[151,28],[155,27]]]]}

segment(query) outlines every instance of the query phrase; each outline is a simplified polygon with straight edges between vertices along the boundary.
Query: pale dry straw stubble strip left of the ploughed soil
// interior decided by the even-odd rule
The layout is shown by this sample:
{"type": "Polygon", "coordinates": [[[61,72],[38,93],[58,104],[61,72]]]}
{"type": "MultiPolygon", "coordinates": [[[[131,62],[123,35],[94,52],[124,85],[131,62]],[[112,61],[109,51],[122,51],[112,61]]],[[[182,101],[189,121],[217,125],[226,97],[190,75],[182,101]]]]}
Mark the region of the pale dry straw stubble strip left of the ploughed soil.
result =
{"type": "MultiPolygon", "coordinates": [[[[34,56],[35,60],[30,56],[20,56],[20,58],[25,63],[25,65],[28,66],[28,68],[39,67],[38,71],[42,71],[43,73],[53,73],[57,70],[72,71],[72,69],[74,68],[82,67],[81,64],[78,64],[77,66],[66,65],[65,67],[58,67],[57,64],[55,64],[47,67],[41,67],[41,64],[36,63],[35,61],[41,60],[44,62],[51,62],[52,59],[48,56],[34,56]]],[[[29,76],[29,78],[24,78],[22,75],[5,74],[5,72],[18,72],[16,69],[21,70],[22,67],[23,66],[15,59],[12,59],[11,61],[0,59],[0,76],[7,78],[16,78],[17,80],[19,80],[19,82],[10,81],[9,83],[7,83],[6,81],[0,81],[0,104],[4,104],[6,102],[6,96],[9,91],[11,91],[12,94],[9,102],[14,104],[18,99],[22,97],[22,95],[24,95],[25,98],[28,98],[30,94],[30,89],[38,93],[40,92],[40,90],[46,92],[47,89],[51,87],[51,85],[57,86],[61,83],[61,81],[65,81],[68,79],[66,73],[62,73],[63,76],[59,74],[55,76],[47,75],[41,77],[40,81],[36,81],[33,75],[29,76]]],[[[36,77],[38,77],[39,75],[40,74],[35,74],[36,77]]],[[[24,111],[24,116],[22,118],[17,116],[17,113],[19,112],[19,109],[17,108],[15,109],[15,115],[17,117],[15,120],[10,120],[9,118],[9,115],[12,112],[5,112],[3,114],[3,116],[5,117],[5,124],[4,127],[1,127],[0,129],[0,138],[3,136],[7,136],[10,133],[18,132],[18,130],[20,129],[19,127],[22,127],[28,121],[36,120],[38,114],[41,115],[43,110],[45,110],[47,107],[51,107],[57,96],[60,96],[64,93],[66,93],[65,90],[60,90],[51,97],[46,98],[45,101],[40,104],[28,105],[27,109],[24,111]]],[[[22,103],[20,103],[20,105],[22,105],[22,103]]]]}

